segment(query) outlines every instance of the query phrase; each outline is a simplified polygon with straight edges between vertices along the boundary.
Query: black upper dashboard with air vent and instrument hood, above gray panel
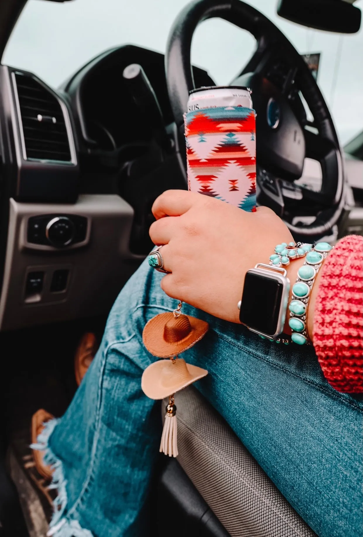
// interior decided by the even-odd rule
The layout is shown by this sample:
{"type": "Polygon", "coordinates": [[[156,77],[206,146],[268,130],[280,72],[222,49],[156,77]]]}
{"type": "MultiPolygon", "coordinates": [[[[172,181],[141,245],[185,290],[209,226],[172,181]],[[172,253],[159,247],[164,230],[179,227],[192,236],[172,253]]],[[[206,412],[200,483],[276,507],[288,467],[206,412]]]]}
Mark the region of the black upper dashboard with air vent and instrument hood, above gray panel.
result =
{"type": "MultiPolygon", "coordinates": [[[[2,129],[2,155],[11,168],[15,199],[75,201],[79,193],[97,192],[89,172],[99,178],[100,193],[116,192],[107,176],[140,156],[155,134],[123,77],[133,63],[144,69],[163,122],[170,125],[164,56],[152,50],[133,45],[107,50],[56,91],[30,72],[0,67],[1,119],[9,126],[2,129]]],[[[198,85],[213,84],[202,69],[194,68],[194,77],[198,85]]]]}

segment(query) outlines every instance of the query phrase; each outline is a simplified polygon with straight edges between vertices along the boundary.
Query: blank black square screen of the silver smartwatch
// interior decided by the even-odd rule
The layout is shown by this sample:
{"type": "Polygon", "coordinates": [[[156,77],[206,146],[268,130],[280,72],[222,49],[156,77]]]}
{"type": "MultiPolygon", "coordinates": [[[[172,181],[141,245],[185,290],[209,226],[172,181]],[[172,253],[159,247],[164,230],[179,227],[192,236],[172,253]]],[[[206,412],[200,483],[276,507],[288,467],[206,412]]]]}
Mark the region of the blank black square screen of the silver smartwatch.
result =
{"type": "Polygon", "coordinates": [[[250,328],[273,336],[279,321],[281,281],[252,271],[246,273],[239,321],[250,328]]]}

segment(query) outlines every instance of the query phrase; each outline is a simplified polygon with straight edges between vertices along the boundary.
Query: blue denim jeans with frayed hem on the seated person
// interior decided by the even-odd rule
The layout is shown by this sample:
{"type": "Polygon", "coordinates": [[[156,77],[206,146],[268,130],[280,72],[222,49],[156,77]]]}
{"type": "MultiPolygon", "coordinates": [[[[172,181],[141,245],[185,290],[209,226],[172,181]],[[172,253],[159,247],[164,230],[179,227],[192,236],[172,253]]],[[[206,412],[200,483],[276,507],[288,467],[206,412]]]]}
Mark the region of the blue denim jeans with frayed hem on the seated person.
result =
{"type": "MultiPolygon", "coordinates": [[[[39,438],[59,493],[49,535],[147,536],[142,508],[161,418],[160,402],[141,391],[142,372],[156,360],[142,330],[177,304],[161,278],[147,262],[130,278],[67,412],[39,438]]],[[[363,403],[329,386],[311,347],[271,344],[187,304],[183,312],[210,327],[183,354],[209,371],[196,385],[201,393],[320,537],[361,537],[363,403]]]]}

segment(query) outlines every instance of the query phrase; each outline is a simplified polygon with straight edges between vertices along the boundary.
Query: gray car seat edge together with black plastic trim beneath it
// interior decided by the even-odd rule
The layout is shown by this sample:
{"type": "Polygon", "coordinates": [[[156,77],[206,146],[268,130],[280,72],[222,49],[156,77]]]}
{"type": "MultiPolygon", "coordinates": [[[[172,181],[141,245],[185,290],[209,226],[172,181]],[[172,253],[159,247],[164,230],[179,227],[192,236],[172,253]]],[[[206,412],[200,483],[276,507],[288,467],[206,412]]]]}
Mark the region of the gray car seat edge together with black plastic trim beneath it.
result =
{"type": "Polygon", "coordinates": [[[316,535],[194,387],[180,391],[176,404],[179,455],[159,480],[159,535],[316,535]]]}

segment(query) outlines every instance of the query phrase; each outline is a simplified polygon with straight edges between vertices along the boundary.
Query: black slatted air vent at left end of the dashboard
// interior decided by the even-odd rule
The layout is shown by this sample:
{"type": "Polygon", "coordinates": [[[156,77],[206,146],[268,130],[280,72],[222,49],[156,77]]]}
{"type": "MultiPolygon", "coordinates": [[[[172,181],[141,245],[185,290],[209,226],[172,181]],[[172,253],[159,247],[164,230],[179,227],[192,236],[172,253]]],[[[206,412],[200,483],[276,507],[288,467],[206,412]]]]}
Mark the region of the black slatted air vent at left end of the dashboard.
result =
{"type": "Polygon", "coordinates": [[[31,76],[14,76],[26,159],[70,162],[67,127],[59,100],[31,76]]]}

